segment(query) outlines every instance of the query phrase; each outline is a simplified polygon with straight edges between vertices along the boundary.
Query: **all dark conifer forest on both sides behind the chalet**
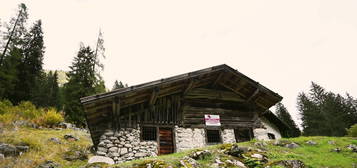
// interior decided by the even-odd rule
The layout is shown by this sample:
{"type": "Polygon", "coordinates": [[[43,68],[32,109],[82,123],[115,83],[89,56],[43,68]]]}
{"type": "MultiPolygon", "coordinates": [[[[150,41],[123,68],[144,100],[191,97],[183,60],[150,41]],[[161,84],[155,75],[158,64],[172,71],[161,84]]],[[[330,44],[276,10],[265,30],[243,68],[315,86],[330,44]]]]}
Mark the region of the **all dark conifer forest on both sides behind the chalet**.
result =
{"type": "MultiPolygon", "coordinates": [[[[105,58],[101,31],[94,46],[81,43],[66,72],[66,82],[60,83],[57,71],[43,68],[46,45],[41,20],[28,26],[25,4],[18,6],[17,13],[10,21],[0,22],[1,106],[25,105],[55,111],[67,122],[86,127],[81,97],[128,87],[121,81],[116,81],[111,89],[105,87],[101,76],[104,65],[100,59],[105,58]]],[[[291,128],[286,137],[345,136],[347,129],[357,123],[357,99],[348,93],[333,93],[314,82],[308,92],[299,93],[296,106],[301,127],[282,103],[276,105],[275,114],[291,128]]],[[[0,121],[8,119],[4,117],[6,113],[0,107],[0,121]]]]}

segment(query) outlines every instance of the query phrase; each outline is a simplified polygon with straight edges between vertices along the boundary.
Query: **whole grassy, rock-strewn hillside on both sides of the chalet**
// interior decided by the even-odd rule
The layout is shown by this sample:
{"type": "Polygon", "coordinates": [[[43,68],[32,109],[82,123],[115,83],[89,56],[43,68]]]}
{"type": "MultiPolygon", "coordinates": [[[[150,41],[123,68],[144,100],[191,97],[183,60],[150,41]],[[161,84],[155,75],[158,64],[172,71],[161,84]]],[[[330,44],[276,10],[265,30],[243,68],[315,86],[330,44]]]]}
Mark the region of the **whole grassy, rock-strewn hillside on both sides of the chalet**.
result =
{"type": "MultiPolygon", "coordinates": [[[[31,168],[46,161],[52,161],[62,168],[85,167],[87,159],[92,156],[89,134],[83,130],[12,128],[3,129],[0,134],[0,144],[29,146],[19,156],[0,160],[0,167],[31,168]],[[79,140],[66,135],[73,135],[79,140]]],[[[357,151],[347,148],[351,144],[357,145],[357,140],[350,137],[299,137],[276,142],[253,140],[135,160],[111,167],[238,167],[234,165],[239,162],[247,167],[284,167],[282,165],[287,162],[282,160],[299,160],[305,167],[352,168],[357,166],[357,151]]]]}

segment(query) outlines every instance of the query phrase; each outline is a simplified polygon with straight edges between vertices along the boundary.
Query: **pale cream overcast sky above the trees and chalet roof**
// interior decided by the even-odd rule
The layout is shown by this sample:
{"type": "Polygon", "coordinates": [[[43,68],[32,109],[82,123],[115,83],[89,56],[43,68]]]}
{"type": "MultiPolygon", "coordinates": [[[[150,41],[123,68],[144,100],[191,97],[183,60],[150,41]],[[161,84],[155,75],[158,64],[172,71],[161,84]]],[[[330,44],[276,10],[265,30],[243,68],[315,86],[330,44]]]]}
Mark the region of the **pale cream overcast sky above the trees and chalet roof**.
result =
{"type": "Polygon", "coordinates": [[[42,20],[46,69],[69,70],[101,28],[108,88],[225,63],[282,95],[295,120],[311,81],[357,97],[355,0],[0,0],[1,21],[21,2],[42,20]]]}

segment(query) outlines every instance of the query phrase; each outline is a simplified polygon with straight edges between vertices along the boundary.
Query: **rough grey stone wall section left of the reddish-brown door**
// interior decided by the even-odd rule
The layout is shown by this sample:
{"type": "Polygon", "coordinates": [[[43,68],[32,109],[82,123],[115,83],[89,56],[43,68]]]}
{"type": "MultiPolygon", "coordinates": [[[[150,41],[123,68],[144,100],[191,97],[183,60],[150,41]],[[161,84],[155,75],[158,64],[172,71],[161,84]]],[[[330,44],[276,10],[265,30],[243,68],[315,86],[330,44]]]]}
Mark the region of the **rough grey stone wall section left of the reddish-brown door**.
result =
{"type": "Polygon", "coordinates": [[[112,158],[116,163],[156,156],[156,141],[140,141],[140,130],[133,128],[120,129],[118,132],[106,131],[100,137],[97,155],[112,158]]]}

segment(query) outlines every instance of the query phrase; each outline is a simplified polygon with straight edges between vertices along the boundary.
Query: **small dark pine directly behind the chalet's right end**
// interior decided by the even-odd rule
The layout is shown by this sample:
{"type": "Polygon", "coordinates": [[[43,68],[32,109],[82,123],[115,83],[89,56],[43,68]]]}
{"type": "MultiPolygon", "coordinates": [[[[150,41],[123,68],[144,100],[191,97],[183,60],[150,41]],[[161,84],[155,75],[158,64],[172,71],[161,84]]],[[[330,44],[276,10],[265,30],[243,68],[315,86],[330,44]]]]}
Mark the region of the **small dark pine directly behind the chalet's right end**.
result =
{"type": "Polygon", "coordinates": [[[298,137],[300,136],[300,130],[294,120],[291,118],[288,110],[282,103],[276,105],[275,113],[277,117],[283,121],[290,128],[287,132],[283,134],[284,137],[298,137]]]}

